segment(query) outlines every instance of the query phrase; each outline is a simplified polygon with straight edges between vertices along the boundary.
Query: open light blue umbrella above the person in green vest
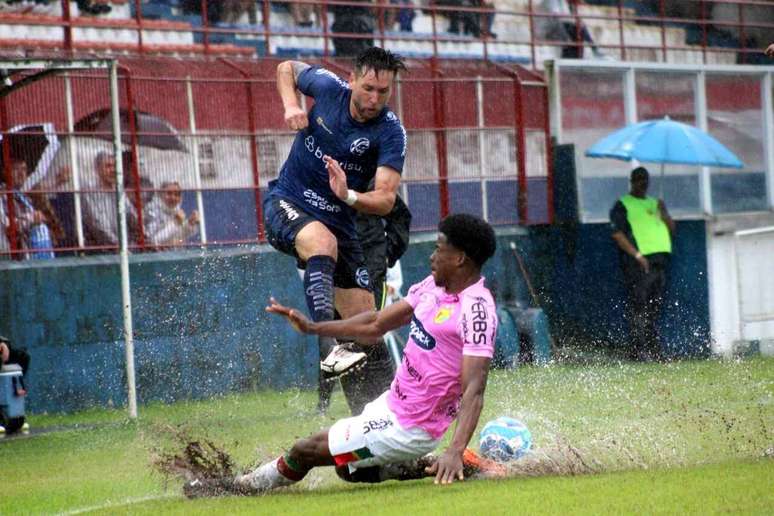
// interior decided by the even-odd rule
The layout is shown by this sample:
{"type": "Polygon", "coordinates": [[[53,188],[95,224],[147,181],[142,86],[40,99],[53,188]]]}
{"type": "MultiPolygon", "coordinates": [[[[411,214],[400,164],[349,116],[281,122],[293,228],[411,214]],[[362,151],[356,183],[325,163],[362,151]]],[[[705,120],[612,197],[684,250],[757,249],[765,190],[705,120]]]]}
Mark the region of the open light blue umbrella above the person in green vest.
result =
{"type": "MultiPolygon", "coordinates": [[[[675,163],[742,168],[744,164],[715,138],[691,125],[648,120],[619,129],[592,145],[586,156],[636,159],[643,163],[675,163]]],[[[663,169],[662,169],[663,170],[663,169]]]]}

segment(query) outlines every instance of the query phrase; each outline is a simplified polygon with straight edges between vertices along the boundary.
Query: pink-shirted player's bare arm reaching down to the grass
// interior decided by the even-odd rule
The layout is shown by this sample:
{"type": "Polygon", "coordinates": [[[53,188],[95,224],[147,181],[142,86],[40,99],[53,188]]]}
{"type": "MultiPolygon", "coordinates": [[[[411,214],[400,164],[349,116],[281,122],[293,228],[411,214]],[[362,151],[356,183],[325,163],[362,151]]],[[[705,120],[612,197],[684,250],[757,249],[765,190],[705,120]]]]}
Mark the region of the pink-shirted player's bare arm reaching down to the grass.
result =
{"type": "Polygon", "coordinates": [[[484,408],[484,391],[490,361],[486,357],[464,356],[462,358],[462,401],[457,426],[449,447],[427,469],[428,473],[435,475],[436,484],[451,484],[455,480],[464,479],[462,453],[476,430],[481,409],[484,408]]]}

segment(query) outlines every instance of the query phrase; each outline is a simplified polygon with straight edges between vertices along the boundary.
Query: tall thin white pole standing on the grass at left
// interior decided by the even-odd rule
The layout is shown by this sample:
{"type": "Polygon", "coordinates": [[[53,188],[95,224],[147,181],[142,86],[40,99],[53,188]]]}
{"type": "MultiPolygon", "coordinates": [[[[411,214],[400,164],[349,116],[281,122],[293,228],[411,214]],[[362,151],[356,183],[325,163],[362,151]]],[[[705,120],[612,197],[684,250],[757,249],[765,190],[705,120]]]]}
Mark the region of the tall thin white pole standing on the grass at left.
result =
{"type": "Polygon", "coordinates": [[[118,103],[118,63],[110,63],[110,108],[113,117],[113,155],[116,160],[116,204],[118,205],[119,257],[121,267],[121,304],[124,315],[124,350],[126,354],[126,387],[129,417],[137,418],[137,386],[134,379],[134,330],[132,329],[132,294],[129,288],[129,248],[126,230],[126,192],[124,164],[121,159],[121,116],[118,103]]]}

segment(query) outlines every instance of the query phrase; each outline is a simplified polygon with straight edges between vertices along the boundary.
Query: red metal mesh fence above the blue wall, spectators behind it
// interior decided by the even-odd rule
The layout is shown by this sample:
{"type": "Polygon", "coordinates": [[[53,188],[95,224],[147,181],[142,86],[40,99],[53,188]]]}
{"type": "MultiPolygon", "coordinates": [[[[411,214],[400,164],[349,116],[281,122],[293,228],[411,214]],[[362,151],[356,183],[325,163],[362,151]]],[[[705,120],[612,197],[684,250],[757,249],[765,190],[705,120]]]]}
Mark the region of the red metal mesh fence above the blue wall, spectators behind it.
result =
{"type": "MultiPolygon", "coordinates": [[[[263,240],[261,198],[295,136],[284,126],[276,93],[278,62],[121,60],[133,250],[263,240]],[[185,222],[178,222],[186,231],[164,240],[156,235],[154,217],[178,188],[185,212],[185,222]],[[198,220],[189,219],[194,211],[198,220]]],[[[341,62],[321,64],[348,74],[341,62]]],[[[8,79],[18,84],[35,72],[8,79]]],[[[57,256],[115,249],[115,184],[106,179],[112,152],[106,74],[52,74],[2,93],[6,181],[0,198],[7,207],[7,243],[0,240],[0,253],[45,254],[31,246],[36,211],[50,226],[57,256]],[[26,174],[15,178],[19,161],[26,174]]],[[[400,193],[414,213],[414,230],[434,229],[454,211],[500,225],[550,222],[548,103],[540,77],[518,66],[410,60],[390,105],[409,137],[400,193]]]]}

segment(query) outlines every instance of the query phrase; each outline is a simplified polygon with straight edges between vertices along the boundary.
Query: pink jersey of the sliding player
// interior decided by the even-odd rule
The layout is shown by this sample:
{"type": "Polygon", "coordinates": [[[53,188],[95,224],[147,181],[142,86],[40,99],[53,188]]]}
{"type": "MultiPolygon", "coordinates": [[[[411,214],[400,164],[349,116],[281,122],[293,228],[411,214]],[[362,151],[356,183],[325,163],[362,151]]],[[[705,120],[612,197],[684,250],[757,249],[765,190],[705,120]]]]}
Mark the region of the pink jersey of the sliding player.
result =
{"type": "Polygon", "coordinates": [[[462,398],[462,357],[492,358],[497,315],[484,278],[448,294],[430,275],[409,289],[414,308],[403,362],[387,405],[404,428],[440,438],[457,417],[462,398]]]}

